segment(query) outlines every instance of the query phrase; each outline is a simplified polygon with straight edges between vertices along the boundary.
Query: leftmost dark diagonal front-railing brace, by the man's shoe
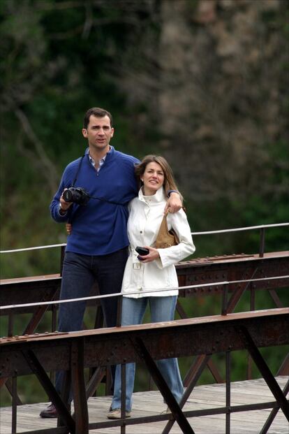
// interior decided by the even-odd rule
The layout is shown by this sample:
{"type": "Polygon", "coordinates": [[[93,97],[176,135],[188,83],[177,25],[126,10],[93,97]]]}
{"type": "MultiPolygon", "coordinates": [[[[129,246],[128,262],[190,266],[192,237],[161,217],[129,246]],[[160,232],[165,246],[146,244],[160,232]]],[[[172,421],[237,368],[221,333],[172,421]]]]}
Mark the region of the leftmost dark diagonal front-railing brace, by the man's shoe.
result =
{"type": "Polygon", "coordinates": [[[69,432],[71,434],[75,434],[75,421],[71,417],[70,412],[68,412],[63,400],[61,400],[59,394],[55,390],[50,380],[50,377],[48,377],[47,373],[38,361],[36,354],[31,349],[28,349],[27,351],[22,351],[22,354],[27,361],[29,367],[31,368],[31,371],[38,377],[38,380],[43,386],[43,389],[45,389],[45,392],[49,396],[50,400],[57,408],[59,416],[68,426],[69,432]]]}

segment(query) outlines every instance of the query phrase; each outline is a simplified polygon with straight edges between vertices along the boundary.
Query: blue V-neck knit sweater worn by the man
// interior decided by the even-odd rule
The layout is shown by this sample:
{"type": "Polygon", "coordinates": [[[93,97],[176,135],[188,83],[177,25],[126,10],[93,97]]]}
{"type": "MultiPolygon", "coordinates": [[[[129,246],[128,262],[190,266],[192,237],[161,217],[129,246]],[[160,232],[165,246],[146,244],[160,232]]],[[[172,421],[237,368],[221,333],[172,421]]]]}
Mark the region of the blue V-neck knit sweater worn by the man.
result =
{"type": "Polygon", "coordinates": [[[102,255],[116,252],[128,246],[126,223],[127,204],[138,195],[134,165],[138,159],[123,154],[111,147],[100,171],[91,165],[85,154],[77,175],[75,187],[84,188],[90,196],[106,198],[120,205],[90,198],[87,205],[73,203],[66,215],[59,215],[59,199],[64,188],[73,185],[80,158],[72,161],[62,175],[50,211],[56,222],[71,222],[73,230],[68,236],[66,251],[87,255],[102,255]]]}

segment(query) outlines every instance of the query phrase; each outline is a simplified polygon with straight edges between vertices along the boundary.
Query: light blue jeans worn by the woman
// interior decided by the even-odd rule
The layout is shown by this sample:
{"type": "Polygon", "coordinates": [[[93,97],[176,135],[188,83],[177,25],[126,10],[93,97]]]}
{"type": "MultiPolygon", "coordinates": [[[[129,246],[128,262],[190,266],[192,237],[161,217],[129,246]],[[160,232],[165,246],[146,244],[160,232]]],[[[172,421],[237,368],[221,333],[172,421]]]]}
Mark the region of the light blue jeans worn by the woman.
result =
{"type": "MultiPolygon", "coordinates": [[[[151,322],[172,321],[175,317],[177,296],[168,297],[124,297],[122,302],[121,325],[142,324],[144,312],[149,302],[151,322]]],[[[177,359],[163,359],[156,361],[170,391],[179,403],[184,393],[177,359]]],[[[135,382],[135,363],[126,363],[126,411],[132,407],[133,385],[135,382]]],[[[114,379],[114,396],[111,409],[121,407],[121,365],[117,365],[114,379]]]]}

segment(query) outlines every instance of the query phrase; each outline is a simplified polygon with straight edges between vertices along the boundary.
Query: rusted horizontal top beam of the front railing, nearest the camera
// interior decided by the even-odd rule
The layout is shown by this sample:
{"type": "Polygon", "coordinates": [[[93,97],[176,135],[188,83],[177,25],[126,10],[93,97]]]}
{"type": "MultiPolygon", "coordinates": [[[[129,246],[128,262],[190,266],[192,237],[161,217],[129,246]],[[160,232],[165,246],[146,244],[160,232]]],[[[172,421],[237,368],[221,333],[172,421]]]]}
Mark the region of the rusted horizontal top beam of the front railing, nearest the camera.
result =
{"type": "Polygon", "coordinates": [[[289,343],[289,308],[240,312],[225,317],[215,315],[138,326],[1,338],[0,377],[10,377],[15,370],[17,375],[31,372],[22,356],[22,348],[36,352],[46,371],[69,370],[70,345],[73,339],[80,337],[84,338],[85,367],[140,361],[132,344],[135,338],[143,340],[156,360],[244,349],[246,346],[235,330],[239,324],[249,329],[258,347],[289,343]]]}

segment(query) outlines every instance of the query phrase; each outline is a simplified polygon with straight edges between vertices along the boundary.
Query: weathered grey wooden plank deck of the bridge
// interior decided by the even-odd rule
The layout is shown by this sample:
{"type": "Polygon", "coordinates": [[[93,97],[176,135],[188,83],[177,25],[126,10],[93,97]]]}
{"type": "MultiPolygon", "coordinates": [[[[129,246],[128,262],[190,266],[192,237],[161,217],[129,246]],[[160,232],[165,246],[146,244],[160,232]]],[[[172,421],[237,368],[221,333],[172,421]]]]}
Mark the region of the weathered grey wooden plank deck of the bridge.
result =
{"type": "MultiPolygon", "coordinates": [[[[281,389],[288,381],[287,376],[276,377],[281,389]]],[[[134,404],[132,417],[144,417],[160,414],[165,410],[161,393],[158,391],[146,391],[134,393],[134,404]]],[[[244,405],[250,403],[265,403],[274,400],[264,379],[246,380],[243,382],[232,382],[231,403],[232,405],[244,405]]],[[[89,398],[89,422],[95,423],[108,421],[106,414],[110,407],[111,397],[101,396],[89,398]]],[[[56,419],[40,419],[39,412],[45,407],[45,403],[34,405],[22,405],[17,407],[17,433],[53,428],[56,426],[56,419]]],[[[225,405],[225,384],[207,384],[196,386],[191,393],[184,410],[202,410],[209,407],[223,407],[225,405]]],[[[265,424],[270,409],[254,410],[250,412],[238,412],[231,414],[231,434],[257,434],[265,424]]],[[[11,407],[0,409],[0,433],[11,433],[11,407]]],[[[168,415],[169,416],[169,415],[168,415]]],[[[206,417],[192,417],[188,419],[195,434],[224,434],[225,415],[216,414],[206,417]]],[[[165,421],[158,421],[151,424],[126,426],[127,434],[161,434],[165,427],[165,421]]],[[[120,427],[101,428],[91,430],[95,434],[117,434],[120,427]]],[[[172,426],[172,434],[181,433],[177,423],[172,426]]],[[[289,424],[283,412],[278,414],[269,428],[269,434],[288,434],[289,424]]]]}

